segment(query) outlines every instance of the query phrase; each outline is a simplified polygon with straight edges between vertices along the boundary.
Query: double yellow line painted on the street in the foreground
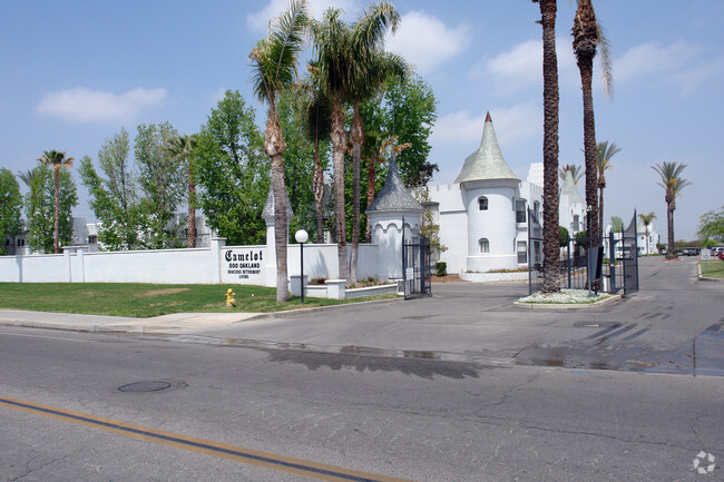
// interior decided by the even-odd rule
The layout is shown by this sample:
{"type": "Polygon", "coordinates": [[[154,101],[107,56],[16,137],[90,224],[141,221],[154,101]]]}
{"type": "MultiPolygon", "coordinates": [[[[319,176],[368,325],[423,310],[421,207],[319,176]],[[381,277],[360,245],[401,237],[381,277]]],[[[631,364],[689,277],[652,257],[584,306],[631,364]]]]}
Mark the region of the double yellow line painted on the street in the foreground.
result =
{"type": "Polygon", "coordinates": [[[98,429],[147,442],[159,443],[177,449],[204,453],[206,455],[263,466],[265,469],[303,475],[310,479],[323,481],[409,482],[403,479],[353,471],[335,465],[326,465],[277,455],[270,452],[260,452],[243,446],[228,445],[206,439],[196,439],[178,433],[164,432],[147,426],[133,425],[111,419],[98,417],[87,413],[74,412],[50,405],[41,405],[9,396],[0,396],[0,406],[75,423],[77,425],[89,426],[91,429],[98,429]]]}

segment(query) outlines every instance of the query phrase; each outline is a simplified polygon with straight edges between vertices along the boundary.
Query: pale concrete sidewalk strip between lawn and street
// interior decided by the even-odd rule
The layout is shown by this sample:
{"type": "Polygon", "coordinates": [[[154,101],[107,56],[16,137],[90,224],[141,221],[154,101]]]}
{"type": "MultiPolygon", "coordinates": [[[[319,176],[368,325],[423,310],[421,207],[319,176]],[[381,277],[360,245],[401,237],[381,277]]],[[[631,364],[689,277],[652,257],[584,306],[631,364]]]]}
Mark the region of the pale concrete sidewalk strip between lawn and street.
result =
{"type": "Polygon", "coordinates": [[[0,309],[0,325],[90,333],[182,333],[227,326],[264,313],[175,313],[151,318],[0,309]]]}

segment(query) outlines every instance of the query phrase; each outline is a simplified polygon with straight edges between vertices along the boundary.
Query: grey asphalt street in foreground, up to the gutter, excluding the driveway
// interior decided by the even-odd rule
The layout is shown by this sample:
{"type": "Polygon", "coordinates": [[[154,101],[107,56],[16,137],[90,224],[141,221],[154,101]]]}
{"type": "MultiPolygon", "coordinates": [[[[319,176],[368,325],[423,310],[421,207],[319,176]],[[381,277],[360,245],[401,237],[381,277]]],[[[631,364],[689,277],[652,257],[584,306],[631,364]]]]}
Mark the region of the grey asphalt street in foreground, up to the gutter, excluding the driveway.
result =
{"type": "MultiPolygon", "coordinates": [[[[703,480],[724,459],[721,377],[0,331],[6,481],[292,481],[214,447],[417,481],[703,480]],[[138,382],[166,390],[124,393],[138,382]],[[25,410],[8,404],[20,401],[25,410]],[[53,410],[55,416],[38,410],[53,410]],[[50,407],[50,409],[49,409],[50,407]],[[85,423],[59,417],[74,412],[85,423]],[[92,419],[92,420],[91,420],[92,419]],[[121,430],[133,424],[143,440],[121,430]],[[155,437],[203,439],[199,453],[155,437]],[[697,476],[699,479],[697,479],[697,476]]],[[[365,475],[368,476],[368,475],[365,475]]],[[[711,480],[721,480],[714,469],[711,480]]]]}

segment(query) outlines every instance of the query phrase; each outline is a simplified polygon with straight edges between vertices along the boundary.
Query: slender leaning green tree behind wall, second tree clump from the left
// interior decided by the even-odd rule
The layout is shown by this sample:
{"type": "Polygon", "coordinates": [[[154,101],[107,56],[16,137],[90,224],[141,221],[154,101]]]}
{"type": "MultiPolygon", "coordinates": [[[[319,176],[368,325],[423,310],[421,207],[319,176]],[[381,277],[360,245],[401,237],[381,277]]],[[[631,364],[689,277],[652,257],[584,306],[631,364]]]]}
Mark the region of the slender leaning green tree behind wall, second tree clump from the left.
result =
{"type": "Polygon", "coordinates": [[[100,174],[90,156],[80,161],[81,183],[90,195],[90,208],[100,220],[98,240],[106,249],[137,249],[141,230],[138,179],[129,158],[128,132],[121,128],[98,151],[100,174]]]}

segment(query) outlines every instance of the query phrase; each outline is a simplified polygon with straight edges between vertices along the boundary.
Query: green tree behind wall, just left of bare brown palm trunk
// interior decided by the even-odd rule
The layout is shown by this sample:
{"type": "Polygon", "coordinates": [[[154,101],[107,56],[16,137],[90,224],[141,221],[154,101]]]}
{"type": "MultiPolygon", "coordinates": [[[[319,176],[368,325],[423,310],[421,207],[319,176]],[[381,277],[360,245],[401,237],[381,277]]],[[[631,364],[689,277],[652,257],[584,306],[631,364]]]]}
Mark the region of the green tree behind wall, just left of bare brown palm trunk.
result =
{"type": "Polygon", "coordinates": [[[168,148],[178,137],[168,122],[140,125],[134,139],[140,214],[145,247],[163,249],[174,246],[176,233],[169,223],[182,201],[185,190],[185,169],[168,148]]]}

